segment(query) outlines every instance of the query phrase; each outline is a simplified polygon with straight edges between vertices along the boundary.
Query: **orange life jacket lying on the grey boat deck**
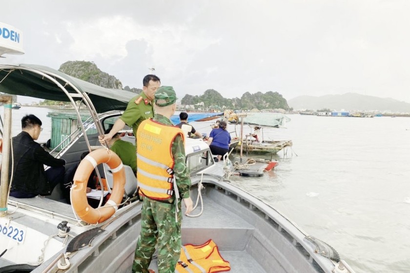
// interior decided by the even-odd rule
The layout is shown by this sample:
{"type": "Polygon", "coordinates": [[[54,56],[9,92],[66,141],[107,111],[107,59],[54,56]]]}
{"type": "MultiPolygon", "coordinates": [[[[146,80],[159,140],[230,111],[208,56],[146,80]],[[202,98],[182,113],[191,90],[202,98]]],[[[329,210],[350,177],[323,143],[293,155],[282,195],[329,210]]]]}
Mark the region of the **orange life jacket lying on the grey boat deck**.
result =
{"type": "Polygon", "coordinates": [[[217,273],[230,270],[230,264],[219,253],[214,241],[200,246],[184,245],[175,273],[217,273]]]}

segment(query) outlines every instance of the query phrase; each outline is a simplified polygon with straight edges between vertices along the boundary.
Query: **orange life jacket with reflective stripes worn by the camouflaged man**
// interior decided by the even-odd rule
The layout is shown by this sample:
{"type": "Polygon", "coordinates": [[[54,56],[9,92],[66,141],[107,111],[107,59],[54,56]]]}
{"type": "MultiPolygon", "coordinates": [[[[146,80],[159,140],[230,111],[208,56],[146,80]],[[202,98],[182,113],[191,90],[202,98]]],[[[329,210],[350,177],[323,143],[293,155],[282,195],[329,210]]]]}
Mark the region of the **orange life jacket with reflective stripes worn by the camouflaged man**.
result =
{"type": "MultiPolygon", "coordinates": [[[[167,126],[151,119],[137,130],[137,180],[139,193],[154,200],[169,199],[174,193],[172,142],[184,133],[176,126],[167,126]]],[[[177,190],[177,189],[176,189],[177,190]]]]}

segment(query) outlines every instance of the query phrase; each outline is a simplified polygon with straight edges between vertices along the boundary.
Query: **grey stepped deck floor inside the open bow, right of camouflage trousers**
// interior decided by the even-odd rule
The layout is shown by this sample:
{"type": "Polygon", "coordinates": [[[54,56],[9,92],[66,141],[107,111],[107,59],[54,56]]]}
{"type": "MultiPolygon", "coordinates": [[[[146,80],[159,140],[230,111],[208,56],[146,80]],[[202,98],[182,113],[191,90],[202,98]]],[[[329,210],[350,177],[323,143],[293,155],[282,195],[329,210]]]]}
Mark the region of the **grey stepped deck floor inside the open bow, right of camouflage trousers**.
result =
{"type": "MultiPolygon", "coordinates": [[[[192,198],[195,202],[196,197],[192,198]]],[[[203,199],[204,211],[201,216],[183,216],[182,243],[201,245],[212,239],[218,246],[221,256],[230,263],[231,270],[229,272],[266,273],[247,252],[248,242],[255,228],[206,196],[203,196],[203,199]],[[210,219],[212,220],[210,221],[210,219]]],[[[191,214],[198,214],[200,210],[199,207],[191,214]]],[[[158,272],[156,257],[152,260],[150,268],[158,272]]]]}

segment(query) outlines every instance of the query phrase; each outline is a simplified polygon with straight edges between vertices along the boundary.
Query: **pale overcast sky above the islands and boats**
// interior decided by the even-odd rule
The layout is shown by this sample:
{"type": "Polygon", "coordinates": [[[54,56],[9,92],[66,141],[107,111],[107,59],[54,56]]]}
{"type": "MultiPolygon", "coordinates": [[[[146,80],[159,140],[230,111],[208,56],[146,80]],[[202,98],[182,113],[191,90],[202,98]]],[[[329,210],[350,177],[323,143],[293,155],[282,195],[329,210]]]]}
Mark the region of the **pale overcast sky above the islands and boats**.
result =
{"type": "Polygon", "coordinates": [[[123,86],[154,67],[179,98],[355,92],[410,103],[409,0],[5,0],[25,55],[92,61],[123,86]]]}

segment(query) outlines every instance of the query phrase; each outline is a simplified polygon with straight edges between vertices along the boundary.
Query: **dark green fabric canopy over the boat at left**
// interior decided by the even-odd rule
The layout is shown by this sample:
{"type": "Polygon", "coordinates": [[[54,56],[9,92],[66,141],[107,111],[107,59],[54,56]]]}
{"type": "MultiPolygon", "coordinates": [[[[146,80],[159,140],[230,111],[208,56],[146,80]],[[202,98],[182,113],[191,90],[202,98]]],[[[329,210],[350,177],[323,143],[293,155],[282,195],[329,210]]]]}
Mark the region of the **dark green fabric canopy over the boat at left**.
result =
{"type": "MultiPolygon", "coordinates": [[[[44,74],[58,81],[68,93],[88,94],[98,113],[110,110],[125,110],[128,102],[137,94],[121,90],[109,89],[68,76],[53,68],[36,64],[0,65],[0,92],[28,96],[45,100],[69,102],[70,99],[61,87],[44,74]],[[74,87],[73,87],[74,86],[74,87]]],[[[75,101],[81,97],[73,96],[75,101]]]]}

